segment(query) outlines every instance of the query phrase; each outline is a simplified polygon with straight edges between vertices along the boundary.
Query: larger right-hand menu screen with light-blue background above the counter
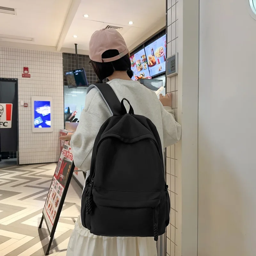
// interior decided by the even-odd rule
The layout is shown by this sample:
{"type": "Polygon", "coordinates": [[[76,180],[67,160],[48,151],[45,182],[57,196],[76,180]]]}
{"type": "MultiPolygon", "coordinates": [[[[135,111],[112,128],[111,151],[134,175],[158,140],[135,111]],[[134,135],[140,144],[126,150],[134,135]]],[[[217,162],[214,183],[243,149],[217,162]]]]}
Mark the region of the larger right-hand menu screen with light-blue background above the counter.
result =
{"type": "Polygon", "coordinates": [[[150,76],[156,76],[166,69],[166,35],[145,47],[150,76]]]}

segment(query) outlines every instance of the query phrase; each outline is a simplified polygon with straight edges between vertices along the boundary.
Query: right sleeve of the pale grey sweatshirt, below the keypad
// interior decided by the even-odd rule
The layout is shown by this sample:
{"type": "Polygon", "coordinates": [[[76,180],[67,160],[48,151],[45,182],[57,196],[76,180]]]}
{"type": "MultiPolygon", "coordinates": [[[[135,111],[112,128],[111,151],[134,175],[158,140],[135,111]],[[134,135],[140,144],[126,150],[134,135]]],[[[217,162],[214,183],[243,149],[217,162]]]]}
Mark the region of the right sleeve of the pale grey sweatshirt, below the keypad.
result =
{"type": "MultiPolygon", "coordinates": [[[[160,101],[159,101],[160,102],[160,101]]],[[[171,107],[163,107],[161,104],[161,115],[164,132],[164,148],[169,147],[180,140],[181,126],[175,121],[174,111],[171,107]]]]}

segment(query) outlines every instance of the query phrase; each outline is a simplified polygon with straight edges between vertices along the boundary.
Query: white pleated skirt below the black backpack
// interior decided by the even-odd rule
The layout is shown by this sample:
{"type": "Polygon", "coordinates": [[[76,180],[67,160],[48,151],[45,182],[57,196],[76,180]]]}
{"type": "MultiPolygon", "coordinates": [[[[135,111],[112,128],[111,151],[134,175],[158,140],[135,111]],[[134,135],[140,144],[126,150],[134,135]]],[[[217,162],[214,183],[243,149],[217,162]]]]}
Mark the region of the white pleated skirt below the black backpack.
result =
{"type": "Polygon", "coordinates": [[[157,256],[154,237],[96,236],[80,216],[70,236],[66,256],[157,256]]]}

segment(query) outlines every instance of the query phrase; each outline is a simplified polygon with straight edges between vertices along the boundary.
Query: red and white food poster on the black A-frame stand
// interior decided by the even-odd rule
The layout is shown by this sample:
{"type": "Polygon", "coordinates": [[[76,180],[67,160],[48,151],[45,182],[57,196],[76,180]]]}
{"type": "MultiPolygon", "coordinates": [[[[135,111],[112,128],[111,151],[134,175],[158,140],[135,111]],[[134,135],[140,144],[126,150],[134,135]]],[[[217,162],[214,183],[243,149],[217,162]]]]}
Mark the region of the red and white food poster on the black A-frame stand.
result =
{"type": "Polygon", "coordinates": [[[63,192],[67,186],[68,178],[73,174],[73,170],[73,155],[71,153],[71,148],[68,145],[68,141],[65,141],[43,209],[44,219],[50,233],[52,232],[56,220],[56,215],[60,207],[63,192]]]}

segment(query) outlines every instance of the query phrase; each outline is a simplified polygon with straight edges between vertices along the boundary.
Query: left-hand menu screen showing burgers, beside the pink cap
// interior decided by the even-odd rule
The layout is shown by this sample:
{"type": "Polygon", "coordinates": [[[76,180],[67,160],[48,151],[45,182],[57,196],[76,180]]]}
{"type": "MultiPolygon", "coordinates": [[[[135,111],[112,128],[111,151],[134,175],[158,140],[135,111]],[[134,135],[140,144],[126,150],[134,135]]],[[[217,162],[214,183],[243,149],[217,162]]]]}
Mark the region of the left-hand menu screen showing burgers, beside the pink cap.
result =
{"type": "Polygon", "coordinates": [[[138,80],[140,78],[150,76],[148,69],[148,61],[144,49],[130,56],[130,60],[132,71],[134,74],[132,77],[133,80],[138,80]]]}

